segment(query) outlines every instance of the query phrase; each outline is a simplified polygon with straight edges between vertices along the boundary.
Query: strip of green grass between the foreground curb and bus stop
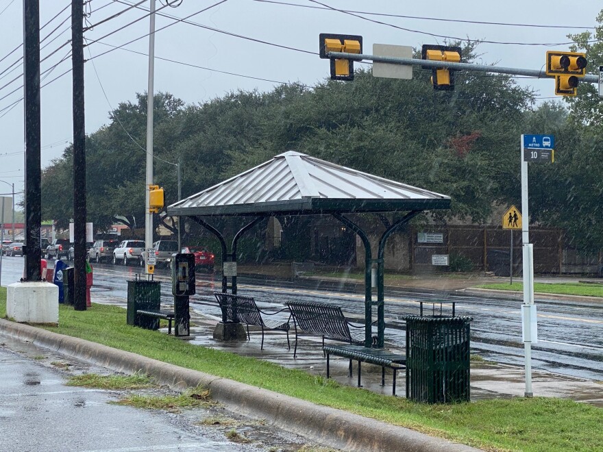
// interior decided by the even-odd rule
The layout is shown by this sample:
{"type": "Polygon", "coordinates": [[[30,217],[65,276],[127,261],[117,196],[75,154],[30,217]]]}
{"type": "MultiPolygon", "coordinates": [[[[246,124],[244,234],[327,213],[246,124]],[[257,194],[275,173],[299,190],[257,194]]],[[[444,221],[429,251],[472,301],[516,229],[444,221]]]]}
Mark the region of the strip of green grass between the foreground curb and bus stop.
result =
{"type": "MultiPolygon", "coordinates": [[[[0,301],[0,314],[4,303],[0,301]]],[[[424,405],[339,384],[251,357],[208,349],[125,324],[121,307],[60,306],[50,331],[106,344],[236,381],[339,408],[487,450],[594,451],[603,446],[603,410],[562,399],[491,399],[424,405]]]]}

